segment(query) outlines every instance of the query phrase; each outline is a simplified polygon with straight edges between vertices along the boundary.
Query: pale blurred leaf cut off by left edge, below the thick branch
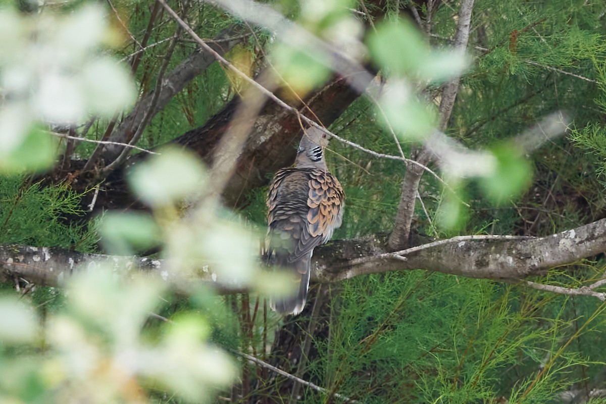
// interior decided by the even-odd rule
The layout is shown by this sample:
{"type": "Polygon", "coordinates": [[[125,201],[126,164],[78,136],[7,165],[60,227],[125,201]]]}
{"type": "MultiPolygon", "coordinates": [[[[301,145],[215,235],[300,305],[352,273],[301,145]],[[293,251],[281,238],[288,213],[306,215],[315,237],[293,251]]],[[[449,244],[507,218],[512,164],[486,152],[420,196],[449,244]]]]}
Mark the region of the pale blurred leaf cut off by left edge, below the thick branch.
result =
{"type": "Polygon", "coordinates": [[[10,297],[0,297],[0,341],[30,342],[35,336],[36,319],[32,308],[10,297]]]}

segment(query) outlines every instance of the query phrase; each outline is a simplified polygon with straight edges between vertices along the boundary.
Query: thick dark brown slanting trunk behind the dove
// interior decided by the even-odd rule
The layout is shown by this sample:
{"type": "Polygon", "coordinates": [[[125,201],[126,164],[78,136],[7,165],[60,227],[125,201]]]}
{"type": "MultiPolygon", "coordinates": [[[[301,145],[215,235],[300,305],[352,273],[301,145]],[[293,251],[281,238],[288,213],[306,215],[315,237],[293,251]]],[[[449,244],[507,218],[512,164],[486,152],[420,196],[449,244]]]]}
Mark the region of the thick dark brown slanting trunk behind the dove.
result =
{"type": "MultiPolygon", "coordinates": [[[[328,126],[358,98],[359,93],[351,89],[347,79],[335,75],[324,87],[311,92],[303,99],[298,99],[295,94],[288,92],[278,93],[278,96],[290,100],[288,104],[297,108],[299,113],[328,126]]],[[[192,129],[170,143],[190,148],[207,164],[212,164],[216,148],[231,124],[238,102],[239,98],[233,99],[203,127],[192,129]]],[[[295,145],[300,134],[301,124],[298,116],[274,102],[267,102],[255,119],[253,129],[236,162],[235,171],[227,182],[223,193],[225,206],[244,206],[247,203],[245,196],[251,190],[266,185],[271,173],[291,165],[295,159],[295,145]]],[[[121,168],[110,174],[104,189],[99,193],[97,206],[105,209],[143,208],[130,194],[125,175],[128,168],[147,156],[145,153],[135,154],[129,157],[121,168]]],[[[88,198],[92,199],[92,196],[88,198]]],[[[85,204],[90,204],[90,200],[85,200],[85,204]]]]}

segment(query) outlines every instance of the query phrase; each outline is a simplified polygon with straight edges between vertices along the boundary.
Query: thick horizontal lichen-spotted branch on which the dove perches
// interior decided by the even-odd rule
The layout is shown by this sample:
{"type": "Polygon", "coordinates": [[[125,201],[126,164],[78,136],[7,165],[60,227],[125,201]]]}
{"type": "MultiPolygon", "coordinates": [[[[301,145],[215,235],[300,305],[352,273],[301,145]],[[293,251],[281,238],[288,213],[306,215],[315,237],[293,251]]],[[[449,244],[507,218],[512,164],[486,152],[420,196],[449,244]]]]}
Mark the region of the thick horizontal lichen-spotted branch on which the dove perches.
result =
{"type": "MultiPolygon", "coordinates": [[[[424,269],[516,282],[605,251],[606,219],[546,237],[459,236],[396,253],[388,251],[387,237],[368,236],[316,248],[312,279],[339,282],[365,274],[424,269]]],[[[22,245],[0,246],[0,280],[4,282],[21,277],[36,284],[60,285],[63,279],[77,271],[101,265],[108,265],[113,270],[141,268],[178,284],[178,276],[168,261],[161,259],[84,254],[22,245]]],[[[214,273],[212,268],[202,271],[199,279],[212,283],[220,293],[241,291],[231,288],[230,282],[214,273]]],[[[593,291],[603,283],[588,287],[593,291]]],[[[558,292],[553,288],[545,290],[558,292]]]]}

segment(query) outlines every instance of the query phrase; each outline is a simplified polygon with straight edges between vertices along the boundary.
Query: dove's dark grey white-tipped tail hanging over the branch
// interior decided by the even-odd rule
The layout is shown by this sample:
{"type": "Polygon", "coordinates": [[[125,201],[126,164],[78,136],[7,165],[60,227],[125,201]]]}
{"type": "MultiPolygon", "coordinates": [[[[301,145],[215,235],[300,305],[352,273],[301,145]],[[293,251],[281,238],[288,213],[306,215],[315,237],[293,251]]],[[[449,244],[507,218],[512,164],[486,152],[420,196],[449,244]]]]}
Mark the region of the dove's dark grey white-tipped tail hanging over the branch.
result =
{"type": "Polygon", "coordinates": [[[295,316],[305,307],[307,300],[307,288],[309,287],[309,276],[311,272],[311,254],[301,257],[293,262],[287,262],[287,257],[275,256],[271,265],[291,270],[293,282],[296,283],[295,292],[291,296],[281,296],[271,298],[271,308],[282,314],[295,314],[295,316]]]}

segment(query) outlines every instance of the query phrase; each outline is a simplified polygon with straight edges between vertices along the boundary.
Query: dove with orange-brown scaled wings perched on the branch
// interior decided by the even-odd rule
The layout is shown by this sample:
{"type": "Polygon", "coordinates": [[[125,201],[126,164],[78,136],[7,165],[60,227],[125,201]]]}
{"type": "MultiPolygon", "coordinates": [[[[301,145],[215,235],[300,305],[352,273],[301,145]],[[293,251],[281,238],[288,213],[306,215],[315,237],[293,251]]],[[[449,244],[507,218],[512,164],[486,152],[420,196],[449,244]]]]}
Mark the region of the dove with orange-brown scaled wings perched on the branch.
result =
{"type": "Polygon", "coordinates": [[[329,135],[305,130],[295,167],[279,170],[267,195],[267,263],[289,271],[296,283],[293,296],[272,299],[279,313],[299,314],[305,307],[313,249],[327,242],[341,226],[345,194],[324,159],[329,135]]]}

